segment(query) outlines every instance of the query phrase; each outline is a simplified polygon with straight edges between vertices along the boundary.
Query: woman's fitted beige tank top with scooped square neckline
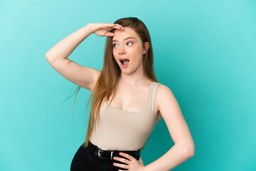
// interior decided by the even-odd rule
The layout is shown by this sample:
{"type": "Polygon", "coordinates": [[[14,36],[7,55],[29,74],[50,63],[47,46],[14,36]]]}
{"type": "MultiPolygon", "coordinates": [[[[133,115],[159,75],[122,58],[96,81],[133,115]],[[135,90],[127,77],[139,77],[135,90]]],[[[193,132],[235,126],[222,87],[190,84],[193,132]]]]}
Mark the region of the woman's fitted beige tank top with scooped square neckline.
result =
{"type": "MultiPolygon", "coordinates": [[[[139,150],[154,130],[159,113],[156,107],[156,90],[160,83],[151,82],[144,109],[130,112],[115,108],[103,100],[100,122],[90,142],[105,150],[139,150]]],[[[160,114],[160,113],[159,113],[160,114]]]]}

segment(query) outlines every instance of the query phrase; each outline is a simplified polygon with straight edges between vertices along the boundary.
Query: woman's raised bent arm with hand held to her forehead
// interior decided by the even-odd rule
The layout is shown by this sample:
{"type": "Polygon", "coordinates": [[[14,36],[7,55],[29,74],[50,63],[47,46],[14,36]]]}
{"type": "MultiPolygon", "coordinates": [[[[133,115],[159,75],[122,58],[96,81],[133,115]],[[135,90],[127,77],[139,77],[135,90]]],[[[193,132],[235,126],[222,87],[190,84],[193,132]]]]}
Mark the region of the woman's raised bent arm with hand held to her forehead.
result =
{"type": "Polygon", "coordinates": [[[81,66],[71,61],[68,56],[91,33],[95,33],[97,36],[113,36],[114,33],[107,32],[113,28],[120,29],[120,26],[117,26],[117,24],[87,24],[78,31],[63,38],[53,48],[50,48],[46,53],[46,59],[50,63],[50,66],[55,71],[58,71],[60,75],[67,78],[68,81],[82,88],[92,90],[101,71],[88,66],[81,66]]]}

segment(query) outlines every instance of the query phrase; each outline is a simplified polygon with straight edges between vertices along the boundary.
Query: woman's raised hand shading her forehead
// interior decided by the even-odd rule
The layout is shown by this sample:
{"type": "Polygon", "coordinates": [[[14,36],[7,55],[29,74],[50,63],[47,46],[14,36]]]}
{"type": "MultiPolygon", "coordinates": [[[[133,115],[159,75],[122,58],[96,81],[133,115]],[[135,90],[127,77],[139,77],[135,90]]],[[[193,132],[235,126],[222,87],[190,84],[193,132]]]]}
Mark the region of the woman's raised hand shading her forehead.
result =
{"type": "Polygon", "coordinates": [[[89,26],[92,30],[92,33],[95,33],[97,36],[114,36],[114,33],[108,32],[114,28],[124,30],[124,27],[122,27],[121,25],[110,23],[92,23],[87,24],[87,26],[89,26]]]}

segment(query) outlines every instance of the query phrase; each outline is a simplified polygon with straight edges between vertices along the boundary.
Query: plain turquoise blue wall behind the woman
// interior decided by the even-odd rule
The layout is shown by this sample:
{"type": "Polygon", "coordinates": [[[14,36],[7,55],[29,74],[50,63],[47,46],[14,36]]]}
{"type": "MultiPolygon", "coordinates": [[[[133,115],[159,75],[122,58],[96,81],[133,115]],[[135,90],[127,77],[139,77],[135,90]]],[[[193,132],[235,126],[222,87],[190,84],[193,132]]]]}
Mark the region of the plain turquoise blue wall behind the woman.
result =
{"type": "MultiPolygon", "coordinates": [[[[136,16],[151,35],[158,81],[174,93],[196,146],[173,170],[256,170],[256,2],[1,1],[0,170],[70,170],[85,140],[90,91],[55,71],[46,52],[89,23],[136,16]]],[[[69,58],[102,69],[106,37],[69,58]]],[[[157,123],[144,165],[174,145],[157,123]]]]}

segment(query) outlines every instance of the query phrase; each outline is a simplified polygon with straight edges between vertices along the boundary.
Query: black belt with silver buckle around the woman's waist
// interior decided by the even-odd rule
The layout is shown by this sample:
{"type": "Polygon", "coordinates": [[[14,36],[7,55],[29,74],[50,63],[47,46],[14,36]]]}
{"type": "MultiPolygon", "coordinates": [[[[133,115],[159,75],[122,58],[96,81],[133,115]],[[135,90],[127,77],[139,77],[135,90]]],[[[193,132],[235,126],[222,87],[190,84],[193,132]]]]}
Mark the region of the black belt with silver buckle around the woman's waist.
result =
{"type": "Polygon", "coordinates": [[[89,141],[89,145],[95,146],[94,150],[92,151],[93,154],[97,155],[100,159],[105,160],[113,160],[114,157],[123,157],[119,155],[119,152],[127,153],[128,155],[132,155],[137,160],[139,160],[139,156],[141,154],[141,150],[137,151],[119,151],[119,150],[105,150],[103,148],[97,147],[97,145],[93,145],[92,142],[89,141]]]}

